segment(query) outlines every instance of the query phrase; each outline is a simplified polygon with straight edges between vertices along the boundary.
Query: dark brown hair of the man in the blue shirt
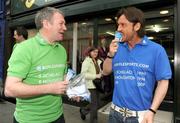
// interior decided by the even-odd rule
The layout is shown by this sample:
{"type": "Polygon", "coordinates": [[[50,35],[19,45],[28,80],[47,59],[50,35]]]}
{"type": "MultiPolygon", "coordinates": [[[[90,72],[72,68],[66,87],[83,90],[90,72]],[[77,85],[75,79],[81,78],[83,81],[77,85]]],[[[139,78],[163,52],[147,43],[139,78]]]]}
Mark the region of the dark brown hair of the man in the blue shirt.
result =
{"type": "Polygon", "coordinates": [[[135,7],[122,8],[117,13],[117,18],[119,18],[121,15],[124,15],[127,18],[127,20],[131,23],[134,24],[140,23],[141,27],[137,31],[138,36],[143,37],[145,35],[145,29],[144,29],[145,18],[144,18],[144,13],[140,9],[135,7]]]}

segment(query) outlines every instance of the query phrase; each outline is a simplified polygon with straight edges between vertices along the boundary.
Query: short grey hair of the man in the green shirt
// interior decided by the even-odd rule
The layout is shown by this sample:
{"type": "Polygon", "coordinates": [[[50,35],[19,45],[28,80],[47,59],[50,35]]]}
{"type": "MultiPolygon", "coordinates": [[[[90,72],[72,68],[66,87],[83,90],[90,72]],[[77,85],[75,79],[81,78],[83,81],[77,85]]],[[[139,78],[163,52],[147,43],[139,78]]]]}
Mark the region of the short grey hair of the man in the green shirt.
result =
{"type": "Polygon", "coordinates": [[[38,30],[42,28],[43,20],[48,20],[50,22],[54,13],[60,13],[61,15],[64,16],[62,11],[60,11],[59,9],[53,8],[53,7],[46,7],[46,8],[41,9],[39,12],[37,12],[37,14],[35,16],[36,28],[38,30]]]}

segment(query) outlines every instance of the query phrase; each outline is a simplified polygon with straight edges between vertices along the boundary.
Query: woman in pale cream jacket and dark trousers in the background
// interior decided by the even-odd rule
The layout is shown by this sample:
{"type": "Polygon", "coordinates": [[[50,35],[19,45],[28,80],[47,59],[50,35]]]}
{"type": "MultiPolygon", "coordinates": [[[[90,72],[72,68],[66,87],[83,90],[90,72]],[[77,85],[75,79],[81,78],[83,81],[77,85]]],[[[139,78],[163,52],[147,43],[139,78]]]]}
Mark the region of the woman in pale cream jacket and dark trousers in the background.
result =
{"type": "Polygon", "coordinates": [[[86,85],[91,93],[91,102],[86,107],[80,108],[81,118],[86,119],[86,115],[90,112],[90,123],[97,123],[97,109],[99,92],[93,84],[93,80],[101,78],[101,60],[98,57],[98,48],[89,47],[87,56],[82,63],[81,73],[84,74],[86,85]]]}

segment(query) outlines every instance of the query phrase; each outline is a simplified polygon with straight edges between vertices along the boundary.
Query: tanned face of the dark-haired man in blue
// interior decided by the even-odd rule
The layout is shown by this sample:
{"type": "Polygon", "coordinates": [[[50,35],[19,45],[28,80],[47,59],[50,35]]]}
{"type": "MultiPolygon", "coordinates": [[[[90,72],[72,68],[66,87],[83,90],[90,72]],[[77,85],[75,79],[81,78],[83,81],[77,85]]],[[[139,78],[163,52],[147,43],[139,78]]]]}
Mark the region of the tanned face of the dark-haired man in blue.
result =
{"type": "Polygon", "coordinates": [[[122,33],[122,41],[131,41],[137,33],[134,30],[134,24],[129,22],[124,15],[121,15],[117,21],[118,31],[122,33]]]}

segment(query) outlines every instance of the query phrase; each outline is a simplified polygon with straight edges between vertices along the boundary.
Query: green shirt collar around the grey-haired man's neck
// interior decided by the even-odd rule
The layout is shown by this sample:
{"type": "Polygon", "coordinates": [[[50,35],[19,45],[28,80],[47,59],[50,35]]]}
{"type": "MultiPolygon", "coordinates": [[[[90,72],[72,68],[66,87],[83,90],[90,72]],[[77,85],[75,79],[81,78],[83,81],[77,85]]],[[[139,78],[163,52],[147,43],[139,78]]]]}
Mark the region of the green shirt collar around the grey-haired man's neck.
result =
{"type": "Polygon", "coordinates": [[[56,47],[56,46],[60,46],[60,43],[59,42],[54,42],[53,44],[50,44],[48,43],[48,41],[46,39],[44,39],[40,33],[37,33],[36,37],[37,41],[39,42],[39,44],[41,45],[50,45],[50,46],[53,46],[53,47],[56,47]]]}

